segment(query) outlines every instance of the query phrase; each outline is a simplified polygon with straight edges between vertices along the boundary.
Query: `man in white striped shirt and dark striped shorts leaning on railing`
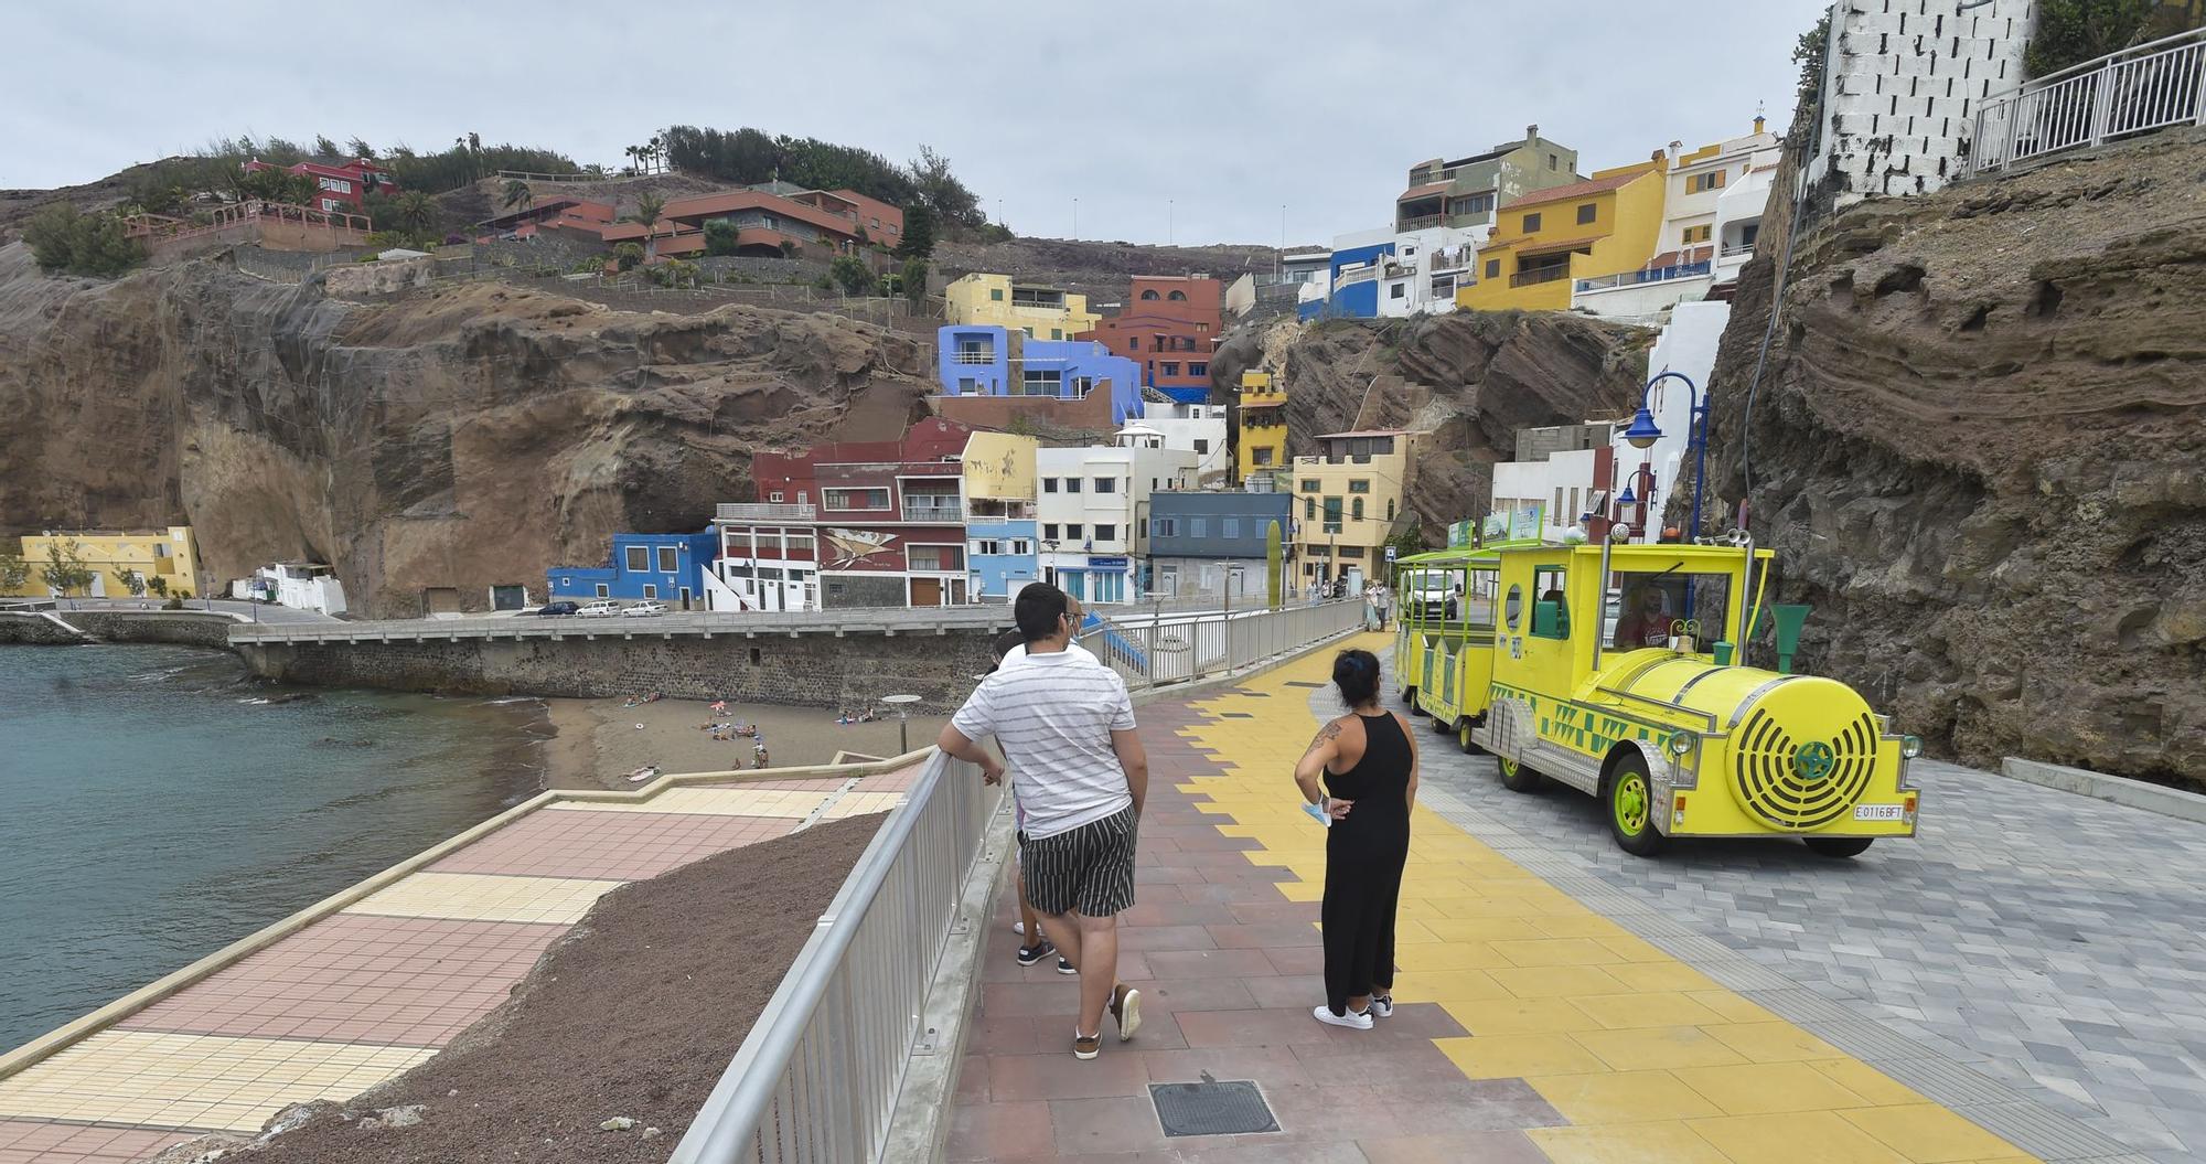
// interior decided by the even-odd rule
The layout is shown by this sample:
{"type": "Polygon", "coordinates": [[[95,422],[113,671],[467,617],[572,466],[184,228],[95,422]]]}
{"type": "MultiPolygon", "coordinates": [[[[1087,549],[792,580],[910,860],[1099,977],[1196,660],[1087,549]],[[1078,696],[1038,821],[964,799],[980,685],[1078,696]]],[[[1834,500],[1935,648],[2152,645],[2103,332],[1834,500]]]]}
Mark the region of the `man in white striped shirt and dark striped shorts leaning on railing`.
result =
{"type": "Polygon", "coordinates": [[[1063,591],[1035,582],[1013,602],[1026,659],[979,681],[942,728],[942,752],[1004,778],[975,741],[995,736],[1019,767],[1010,791],[1026,827],[1019,871],[1041,930],[1081,977],[1072,1056],[1103,1047],[1103,1012],[1118,1038],[1141,1027],[1141,992],[1118,981],[1118,910],[1134,904],[1134,840],[1149,794],[1149,756],[1134,732],[1125,679],[1088,653],[1068,653],[1074,622],[1063,591]],[[1085,657],[1083,657],[1085,655],[1085,657]]]}

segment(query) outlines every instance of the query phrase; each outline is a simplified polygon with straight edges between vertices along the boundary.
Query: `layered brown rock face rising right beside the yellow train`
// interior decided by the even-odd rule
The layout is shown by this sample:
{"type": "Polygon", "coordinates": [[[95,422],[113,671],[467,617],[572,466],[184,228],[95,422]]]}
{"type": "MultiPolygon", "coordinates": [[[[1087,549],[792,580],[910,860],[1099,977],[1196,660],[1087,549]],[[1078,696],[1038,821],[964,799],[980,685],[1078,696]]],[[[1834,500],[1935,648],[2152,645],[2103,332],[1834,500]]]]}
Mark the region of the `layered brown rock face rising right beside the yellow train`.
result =
{"type": "Polygon", "coordinates": [[[1816,604],[1802,661],[1972,765],[2206,783],[2206,141],[1811,225],[1747,425],[1769,238],[1710,487],[1816,604]]]}

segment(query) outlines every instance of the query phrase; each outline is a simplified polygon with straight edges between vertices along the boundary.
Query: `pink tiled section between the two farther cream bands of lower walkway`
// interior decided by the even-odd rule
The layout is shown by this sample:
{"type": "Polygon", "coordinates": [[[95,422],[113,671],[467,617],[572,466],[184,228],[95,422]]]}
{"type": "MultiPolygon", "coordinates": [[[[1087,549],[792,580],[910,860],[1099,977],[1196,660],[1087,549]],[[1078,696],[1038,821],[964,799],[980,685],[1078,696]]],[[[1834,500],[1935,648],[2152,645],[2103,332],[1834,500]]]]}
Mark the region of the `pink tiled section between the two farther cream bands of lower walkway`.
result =
{"type": "Polygon", "coordinates": [[[545,809],[443,858],[430,873],[507,873],[638,882],[693,860],[788,836],[757,816],[545,809]]]}

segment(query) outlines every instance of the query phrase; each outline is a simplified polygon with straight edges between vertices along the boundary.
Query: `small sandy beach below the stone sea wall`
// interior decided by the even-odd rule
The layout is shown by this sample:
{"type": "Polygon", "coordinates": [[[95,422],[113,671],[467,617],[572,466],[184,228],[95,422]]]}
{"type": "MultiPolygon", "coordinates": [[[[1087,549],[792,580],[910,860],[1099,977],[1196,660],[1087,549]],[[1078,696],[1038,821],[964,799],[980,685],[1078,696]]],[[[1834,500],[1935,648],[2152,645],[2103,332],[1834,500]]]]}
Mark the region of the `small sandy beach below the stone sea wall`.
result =
{"type": "MultiPolygon", "coordinates": [[[[660,772],[750,769],[754,741],[715,741],[704,728],[737,721],[759,728],[772,767],[821,765],[838,752],[898,754],[896,719],[836,723],[836,712],[777,703],[728,703],[715,714],[697,699],[660,699],[622,708],[620,699],[547,699],[554,739],[545,741],[545,787],[635,787],[629,774],[644,765],[660,772]]],[[[935,741],[946,716],[911,716],[911,747],[935,741]]]]}

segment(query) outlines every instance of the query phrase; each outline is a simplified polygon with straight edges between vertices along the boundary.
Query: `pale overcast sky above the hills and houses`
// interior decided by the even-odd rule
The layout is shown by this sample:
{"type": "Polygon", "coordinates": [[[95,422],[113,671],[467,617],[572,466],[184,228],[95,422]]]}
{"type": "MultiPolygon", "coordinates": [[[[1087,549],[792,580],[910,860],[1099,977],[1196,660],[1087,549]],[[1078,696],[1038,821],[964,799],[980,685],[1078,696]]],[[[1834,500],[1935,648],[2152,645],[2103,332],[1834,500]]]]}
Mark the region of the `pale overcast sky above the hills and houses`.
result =
{"type": "Polygon", "coordinates": [[[1791,117],[1818,0],[20,4],[0,187],[254,132],[618,165],[671,123],[944,152],[1019,234],[1288,242],[1540,132],[1586,170],[1791,117]]]}

